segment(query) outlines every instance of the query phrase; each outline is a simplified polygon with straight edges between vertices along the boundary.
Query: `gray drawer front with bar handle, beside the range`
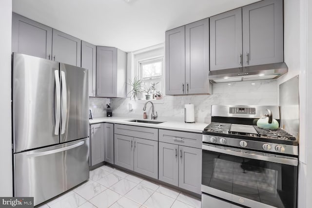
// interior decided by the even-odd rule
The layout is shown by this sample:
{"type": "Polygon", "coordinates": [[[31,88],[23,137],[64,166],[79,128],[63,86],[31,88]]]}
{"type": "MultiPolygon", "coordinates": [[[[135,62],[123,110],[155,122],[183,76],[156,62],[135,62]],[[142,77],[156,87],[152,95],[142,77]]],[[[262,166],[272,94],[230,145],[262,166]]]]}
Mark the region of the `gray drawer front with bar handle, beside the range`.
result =
{"type": "Polygon", "coordinates": [[[159,141],[201,149],[202,134],[160,129],[159,141]]]}

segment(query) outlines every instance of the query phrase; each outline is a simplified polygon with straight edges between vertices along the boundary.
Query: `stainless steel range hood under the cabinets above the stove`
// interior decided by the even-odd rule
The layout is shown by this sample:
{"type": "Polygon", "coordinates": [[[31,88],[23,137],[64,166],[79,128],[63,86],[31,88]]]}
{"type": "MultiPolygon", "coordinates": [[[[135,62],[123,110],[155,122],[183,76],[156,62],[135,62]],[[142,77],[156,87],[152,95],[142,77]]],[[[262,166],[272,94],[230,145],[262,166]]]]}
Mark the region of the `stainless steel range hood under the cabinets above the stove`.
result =
{"type": "Polygon", "coordinates": [[[276,79],[288,72],[285,62],[222,69],[209,72],[213,83],[276,79]]]}

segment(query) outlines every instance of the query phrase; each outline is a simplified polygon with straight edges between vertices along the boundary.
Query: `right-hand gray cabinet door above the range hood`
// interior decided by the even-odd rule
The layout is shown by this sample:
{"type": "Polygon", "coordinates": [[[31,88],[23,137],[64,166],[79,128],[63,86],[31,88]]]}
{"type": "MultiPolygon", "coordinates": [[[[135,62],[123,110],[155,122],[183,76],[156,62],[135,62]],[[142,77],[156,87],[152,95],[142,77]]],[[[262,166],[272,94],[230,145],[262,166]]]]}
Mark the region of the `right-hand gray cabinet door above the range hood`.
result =
{"type": "Polygon", "coordinates": [[[283,62],[283,0],[243,7],[243,64],[283,62]]]}

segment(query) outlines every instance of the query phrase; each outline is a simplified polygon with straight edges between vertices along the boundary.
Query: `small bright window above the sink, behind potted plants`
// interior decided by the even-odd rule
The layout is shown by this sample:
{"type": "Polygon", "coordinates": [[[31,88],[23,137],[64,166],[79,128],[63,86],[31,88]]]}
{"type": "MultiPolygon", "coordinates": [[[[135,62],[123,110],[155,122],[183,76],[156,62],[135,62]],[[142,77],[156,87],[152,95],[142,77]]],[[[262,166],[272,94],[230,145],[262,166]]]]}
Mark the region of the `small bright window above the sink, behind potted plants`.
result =
{"type": "Polygon", "coordinates": [[[162,92],[162,69],[163,69],[163,58],[154,58],[138,62],[139,76],[143,82],[143,89],[149,89],[151,86],[155,85],[154,92],[162,92]]]}

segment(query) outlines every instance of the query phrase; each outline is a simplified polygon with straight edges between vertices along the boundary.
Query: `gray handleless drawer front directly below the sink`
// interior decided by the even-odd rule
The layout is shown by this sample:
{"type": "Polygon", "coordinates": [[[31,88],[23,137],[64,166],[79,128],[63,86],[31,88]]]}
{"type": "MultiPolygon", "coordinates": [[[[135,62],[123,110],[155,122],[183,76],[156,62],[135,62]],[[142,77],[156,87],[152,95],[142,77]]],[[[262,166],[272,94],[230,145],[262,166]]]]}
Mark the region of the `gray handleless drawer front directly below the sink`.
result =
{"type": "Polygon", "coordinates": [[[158,129],[115,124],[115,133],[158,141],[158,129]]]}

